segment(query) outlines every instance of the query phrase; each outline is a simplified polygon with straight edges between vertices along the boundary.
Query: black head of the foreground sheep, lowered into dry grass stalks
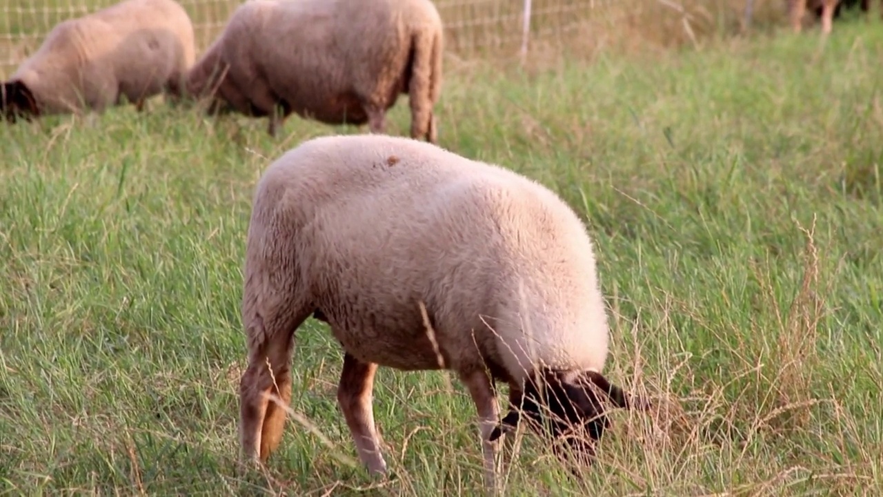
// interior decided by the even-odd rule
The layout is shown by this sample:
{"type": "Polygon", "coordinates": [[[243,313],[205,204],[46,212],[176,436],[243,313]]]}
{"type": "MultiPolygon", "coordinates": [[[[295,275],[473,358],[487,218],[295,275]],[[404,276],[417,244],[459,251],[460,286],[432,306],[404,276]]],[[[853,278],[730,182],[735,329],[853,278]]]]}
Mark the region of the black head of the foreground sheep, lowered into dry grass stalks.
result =
{"type": "MultiPolygon", "coordinates": [[[[610,427],[605,404],[629,408],[626,394],[595,371],[547,371],[538,376],[525,385],[521,412],[535,430],[567,444],[577,459],[592,463],[595,444],[610,427]]],[[[499,438],[507,425],[517,425],[518,417],[517,410],[510,410],[490,440],[499,438]]],[[[562,448],[555,444],[557,454],[563,455],[562,448]]]]}

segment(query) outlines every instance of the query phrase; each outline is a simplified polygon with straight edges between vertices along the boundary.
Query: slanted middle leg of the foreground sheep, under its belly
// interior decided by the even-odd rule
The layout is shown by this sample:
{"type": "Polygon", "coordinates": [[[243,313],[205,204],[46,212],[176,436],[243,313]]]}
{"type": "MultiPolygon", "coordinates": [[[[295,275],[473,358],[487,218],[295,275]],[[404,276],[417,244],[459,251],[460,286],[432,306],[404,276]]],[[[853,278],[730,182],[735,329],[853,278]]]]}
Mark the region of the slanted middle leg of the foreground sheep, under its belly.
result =
{"type": "Polygon", "coordinates": [[[343,371],[337,386],[337,402],[343,411],[358,457],[374,474],[386,472],[380,437],[374,426],[372,392],[377,364],[363,363],[350,354],[343,356],[343,371]]]}

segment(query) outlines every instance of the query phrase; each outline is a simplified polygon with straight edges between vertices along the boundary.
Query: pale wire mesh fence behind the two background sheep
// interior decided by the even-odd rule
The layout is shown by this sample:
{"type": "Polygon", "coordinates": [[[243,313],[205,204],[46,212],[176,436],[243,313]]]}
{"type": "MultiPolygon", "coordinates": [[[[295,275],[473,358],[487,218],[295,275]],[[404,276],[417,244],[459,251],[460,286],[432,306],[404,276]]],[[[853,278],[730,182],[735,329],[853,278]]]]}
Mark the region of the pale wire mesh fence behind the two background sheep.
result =
{"type": "MultiPolygon", "coordinates": [[[[6,77],[64,19],[117,0],[0,0],[0,75],[6,77]]],[[[297,0],[292,0],[297,1],[297,0]]],[[[368,1],[368,0],[363,0],[368,1]]],[[[560,41],[600,9],[623,0],[435,0],[445,24],[445,50],[470,57],[488,50],[526,50],[526,42],[560,41]]],[[[178,0],[190,14],[201,52],[241,1],[178,0]]]]}

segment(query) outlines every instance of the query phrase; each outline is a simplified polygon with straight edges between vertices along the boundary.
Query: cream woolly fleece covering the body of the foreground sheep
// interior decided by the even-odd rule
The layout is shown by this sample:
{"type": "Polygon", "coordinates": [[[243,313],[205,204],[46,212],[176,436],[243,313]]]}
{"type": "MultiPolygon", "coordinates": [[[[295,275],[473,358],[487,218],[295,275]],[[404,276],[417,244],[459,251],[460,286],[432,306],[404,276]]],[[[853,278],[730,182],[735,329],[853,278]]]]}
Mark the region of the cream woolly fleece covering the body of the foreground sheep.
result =
{"type": "Polygon", "coordinates": [[[251,350],[289,343],[318,309],[359,360],[438,369],[418,302],[445,368],[490,360],[523,380],[537,359],[601,371],[608,353],[592,242],[539,183],[376,134],[306,141],[268,167],[245,256],[251,350]]]}

